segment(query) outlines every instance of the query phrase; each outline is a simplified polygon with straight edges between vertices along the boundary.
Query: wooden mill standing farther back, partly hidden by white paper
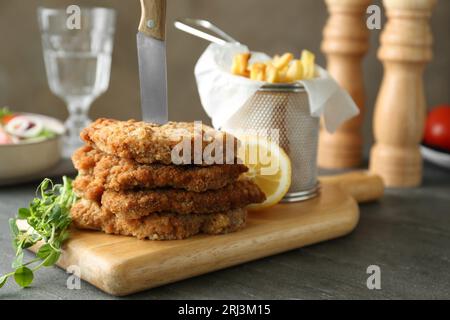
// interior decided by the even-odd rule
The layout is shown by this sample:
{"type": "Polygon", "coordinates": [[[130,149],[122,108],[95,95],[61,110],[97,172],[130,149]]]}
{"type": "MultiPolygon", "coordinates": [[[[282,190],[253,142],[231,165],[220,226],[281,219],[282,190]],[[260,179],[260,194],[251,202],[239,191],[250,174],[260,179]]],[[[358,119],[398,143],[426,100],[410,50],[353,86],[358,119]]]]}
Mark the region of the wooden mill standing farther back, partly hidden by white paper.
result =
{"type": "Polygon", "coordinates": [[[365,14],[371,0],[326,0],[330,18],[323,31],[322,51],[333,78],[352,96],[360,115],[345,122],[335,133],[322,126],[318,163],[322,168],[352,168],[361,164],[364,84],[361,62],[369,49],[365,14]]]}

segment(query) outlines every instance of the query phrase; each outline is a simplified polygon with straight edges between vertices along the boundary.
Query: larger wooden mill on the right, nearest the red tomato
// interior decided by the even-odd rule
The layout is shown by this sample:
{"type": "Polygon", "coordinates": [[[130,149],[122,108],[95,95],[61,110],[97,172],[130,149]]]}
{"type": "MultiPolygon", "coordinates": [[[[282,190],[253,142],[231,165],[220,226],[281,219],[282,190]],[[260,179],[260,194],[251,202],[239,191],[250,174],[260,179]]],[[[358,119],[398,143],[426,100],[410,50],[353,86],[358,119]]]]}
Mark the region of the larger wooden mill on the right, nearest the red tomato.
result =
{"type": "Polygon", "coordinates": [[[435,0],[384,0],[388,21],[378,57],[384,78],[375,105],[375,145],[370,170],[386,186],[413,187],[422,181],[426,103],[423,71],[432,59],[429,26],[435,0]]]}

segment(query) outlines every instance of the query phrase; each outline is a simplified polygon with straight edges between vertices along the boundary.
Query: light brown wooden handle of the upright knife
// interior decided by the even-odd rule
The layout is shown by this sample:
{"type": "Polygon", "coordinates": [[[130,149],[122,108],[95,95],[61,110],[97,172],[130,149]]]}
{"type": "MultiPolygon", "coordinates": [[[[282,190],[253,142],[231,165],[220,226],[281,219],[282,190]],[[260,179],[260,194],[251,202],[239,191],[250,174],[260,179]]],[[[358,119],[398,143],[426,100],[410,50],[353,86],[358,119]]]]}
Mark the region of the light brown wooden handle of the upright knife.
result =
{"type": "Polygon", "coordinates": [[[139,31],[164,41],[166,39],[166,0],[141,0],[141,7],[139,31]]]}

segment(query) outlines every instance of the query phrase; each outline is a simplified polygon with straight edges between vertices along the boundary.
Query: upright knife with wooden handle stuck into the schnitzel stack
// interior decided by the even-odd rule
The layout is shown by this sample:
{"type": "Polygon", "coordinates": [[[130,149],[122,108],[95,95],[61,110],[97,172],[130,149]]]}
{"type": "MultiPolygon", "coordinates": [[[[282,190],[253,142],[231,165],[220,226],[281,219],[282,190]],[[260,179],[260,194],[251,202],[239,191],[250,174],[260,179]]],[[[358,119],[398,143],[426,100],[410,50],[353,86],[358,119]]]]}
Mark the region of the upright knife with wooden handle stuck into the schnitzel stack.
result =
{"type": "Polygon", "coordinates": [[[144,121],[168,121],[166,65],[166,0],[141,0],[137,34],[141,107],[144,121]]]}

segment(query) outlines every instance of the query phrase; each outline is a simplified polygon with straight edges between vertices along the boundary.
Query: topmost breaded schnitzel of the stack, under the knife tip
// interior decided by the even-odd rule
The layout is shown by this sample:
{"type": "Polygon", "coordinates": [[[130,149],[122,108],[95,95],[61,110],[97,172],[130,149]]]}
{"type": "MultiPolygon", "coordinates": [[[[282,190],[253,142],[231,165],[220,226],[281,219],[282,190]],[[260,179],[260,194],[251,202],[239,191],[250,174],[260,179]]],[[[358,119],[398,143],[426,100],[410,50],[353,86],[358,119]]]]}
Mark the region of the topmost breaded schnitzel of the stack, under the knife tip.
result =
{"type": "MultiPolygon", "coordinates": [[[[232,163],[236,163],[238,140],[235,137],[206,125],[198,127],[199,130],[196,131],[195,124],[187,122],[157,125],[135,120],[98,119],[85,128],[80,136],[87,144],[105,153],[134,159],[142,164],[173,164],[172,151],[176,150],[182,141],[188,141],[190,150],[183,148],[183,152],[186,151],[189,161],[192,161],[190,163],[194,164],[196,154],[194,141],[197,141],[200,147],[200,163],[195,164],[211,164],[203,161],[202,153],[212,142],[218,142],[216,151],[223,155],[221,157],[223,163],[230,163],[226,162],[226,157],[229,157],[232,163]],[[227,149],[227,143],[231,145],[228,147],[230,149],[228,155],[224,151],[227,149]]],[[[184,156],[183,152],[180,153],[184,156]]]]}

